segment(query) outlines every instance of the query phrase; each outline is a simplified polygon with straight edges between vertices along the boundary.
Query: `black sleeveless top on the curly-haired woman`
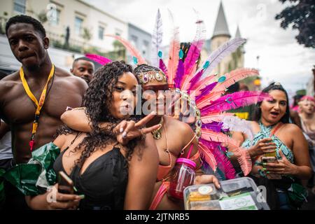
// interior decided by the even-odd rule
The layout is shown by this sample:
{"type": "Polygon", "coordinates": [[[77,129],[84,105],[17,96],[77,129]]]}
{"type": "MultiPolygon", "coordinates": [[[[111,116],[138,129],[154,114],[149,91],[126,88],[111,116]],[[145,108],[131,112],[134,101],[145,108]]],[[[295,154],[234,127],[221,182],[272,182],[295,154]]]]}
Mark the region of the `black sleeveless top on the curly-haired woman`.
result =
{"type": "MultiPolygon", "coordinates": [[[[54,170],[63,171],[62,156],[57,157],[54,170]]],[[[65,172],[66,173],[66,172],[65,172]]],[[[121,210],[125,202],[128,168],[127,160],[120,153],[120,148],[113,149],[94,160],[80,175],[80,167],[73,167],[69,177],[78,190],[78,195],[85,195],[80,200],[79,209],[121,210]]]]}

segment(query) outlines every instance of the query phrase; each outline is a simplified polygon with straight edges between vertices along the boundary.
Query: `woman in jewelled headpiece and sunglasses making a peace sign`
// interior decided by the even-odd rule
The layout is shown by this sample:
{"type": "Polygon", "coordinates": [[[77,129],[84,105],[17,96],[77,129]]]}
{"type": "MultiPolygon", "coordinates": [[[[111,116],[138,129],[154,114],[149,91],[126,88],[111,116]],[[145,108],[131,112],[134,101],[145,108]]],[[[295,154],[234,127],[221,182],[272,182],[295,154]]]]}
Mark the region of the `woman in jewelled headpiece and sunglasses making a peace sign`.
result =
{"type": "MultiPolygon", "coordinates": [[[[190,155],[190,160],[196,163],[197,168],[195,169],[196,178],[194,184],[214,183],[217,188],[220,188],[218,179],[214,175],[202,174],[202,170],[200,169],[200,154],[197,151],[197,140],[191,127],[171,116],[166,116],[167,95],[166,92],[160,91],[169,90],[165,73],[154,66],[141,64],[134,69],[134,74],[139,78],[139,83],[141,83],[141,87],[144,90],[143,97],[145,102],[142,110],[144,113],[158,111],[157,115],[147,123],[146,127],[150,128],[160,125],[152,134],[147,135],[154,138],[160,160],[155,188],[153,193],[151,193],[151,206],[149,209],[183,209],[183,202],[181,200],[172,200],[166,194],[176,159],[180,157],[187,158],[190,155]],[[150,106],[146,108],[145,104],[150,106]],[[146,109],[148,111],[145,111],[146,109]]],[[[88,119],[84,111],[67,111],[62,115],[62,121],[75,130],[84,130],[85,132],[92,130],[91,125],[88,125],[88,119]]],[[[102,125],[106,127],[107,124],[102,125]]],[[[130,131],[130,128],[126,127],[126,124],[118,126],[126,133],[123,138],[125,142],[137,137],[137,132],[130,131]]],[[[118,138],[118,140],[120,141],[121,139],[118,138]]]]}

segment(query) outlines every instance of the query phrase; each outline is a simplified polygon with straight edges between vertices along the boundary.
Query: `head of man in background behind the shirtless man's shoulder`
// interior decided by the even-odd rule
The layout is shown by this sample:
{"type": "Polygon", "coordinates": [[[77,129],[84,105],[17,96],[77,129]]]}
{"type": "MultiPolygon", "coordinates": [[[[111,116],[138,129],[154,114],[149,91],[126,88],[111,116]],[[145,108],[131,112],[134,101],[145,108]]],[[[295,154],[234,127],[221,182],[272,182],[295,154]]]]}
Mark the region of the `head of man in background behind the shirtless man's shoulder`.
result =
{"type": "Polygon", "coordinates": [[[94,73],[94,63],[87,57],[78,57],[74,59],[70,72],[74,76],[83,78],[85,82],[90,83],[94,73]]]}

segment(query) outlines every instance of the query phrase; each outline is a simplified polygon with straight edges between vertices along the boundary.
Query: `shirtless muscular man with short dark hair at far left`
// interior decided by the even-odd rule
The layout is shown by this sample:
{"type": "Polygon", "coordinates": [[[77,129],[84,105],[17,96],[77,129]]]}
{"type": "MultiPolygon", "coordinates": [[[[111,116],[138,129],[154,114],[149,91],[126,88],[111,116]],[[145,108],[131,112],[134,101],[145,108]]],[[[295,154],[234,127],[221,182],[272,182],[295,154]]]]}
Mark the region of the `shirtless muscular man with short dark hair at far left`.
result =
{"type": "MultiPolygon", "coordinates": [[[[6,23],[6,36],[13,55],[22,63],[29,90],[39,101],[52,71],[52,62],[47,52],[49,39],[45,35],[45,29],[34,18],[17,15],[6,23]]],[[[60,116],[66,106],[80,106],[86,89],[87,84],[82,79],[55,68],[55,74],[48,82],[45,102],[38,119],[34,149],[52,141],[57,127],[62,124],[60,116]]],[[[28,97],[22,85],[20,71],[0,81],[0,117],[10,125],[16,164],[27,162],[31,158],[29,141],[35,112],[36,104],[28,97]]]]}

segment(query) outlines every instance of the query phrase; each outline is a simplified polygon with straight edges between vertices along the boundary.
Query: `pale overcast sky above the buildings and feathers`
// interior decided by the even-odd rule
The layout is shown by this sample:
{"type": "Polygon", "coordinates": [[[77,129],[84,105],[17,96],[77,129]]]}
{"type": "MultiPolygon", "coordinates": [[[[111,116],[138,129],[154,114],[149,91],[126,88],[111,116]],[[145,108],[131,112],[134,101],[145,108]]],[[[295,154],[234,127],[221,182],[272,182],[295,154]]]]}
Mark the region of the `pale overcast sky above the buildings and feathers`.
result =
{"type": "MultiPolygon", "coordinates": [[[[207,27],[207,38],[212,36],[220,0],[86,0],[94,6],[152,33],[155,15],[160,8],[163,20],[164,43],[171,30],[168,9],[180,28],[181,41],[195,36],[196,14],[200,13],[207,27]]],[[[279,81],[289,92],[305,88],[312,76],[315,50],[304,48],[295,41],[297,31],[282,29],[276,13],[285,7],[278,0],[223,0],[230,34],[235,35],[237,24],[241,36],[247,38],[245,66],[260,69],[262,85],[279,81]],[[259,62],[256,57],[259,55],[259,62]]]]}

